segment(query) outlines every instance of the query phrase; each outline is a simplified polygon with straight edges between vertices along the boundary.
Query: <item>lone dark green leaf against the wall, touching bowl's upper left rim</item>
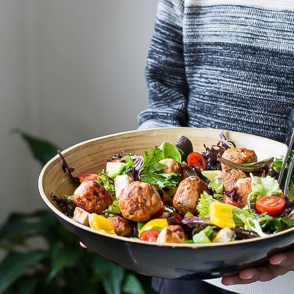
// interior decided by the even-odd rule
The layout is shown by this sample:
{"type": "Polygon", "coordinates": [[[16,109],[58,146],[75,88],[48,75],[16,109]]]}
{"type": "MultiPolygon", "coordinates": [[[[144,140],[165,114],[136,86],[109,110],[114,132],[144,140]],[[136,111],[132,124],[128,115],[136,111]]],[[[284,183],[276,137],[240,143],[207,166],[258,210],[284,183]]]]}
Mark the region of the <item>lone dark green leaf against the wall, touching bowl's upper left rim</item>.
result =
{"type": "Polygon", "coordinates": [[[38,160],[43,166],[57,154],[57,150],[60,150],[55,144],[32,136],[18,128],[11,129],[13,134],[19,134],[24,141],[29,145],[29,149],[33,154],[34,158],[38,160]]]}

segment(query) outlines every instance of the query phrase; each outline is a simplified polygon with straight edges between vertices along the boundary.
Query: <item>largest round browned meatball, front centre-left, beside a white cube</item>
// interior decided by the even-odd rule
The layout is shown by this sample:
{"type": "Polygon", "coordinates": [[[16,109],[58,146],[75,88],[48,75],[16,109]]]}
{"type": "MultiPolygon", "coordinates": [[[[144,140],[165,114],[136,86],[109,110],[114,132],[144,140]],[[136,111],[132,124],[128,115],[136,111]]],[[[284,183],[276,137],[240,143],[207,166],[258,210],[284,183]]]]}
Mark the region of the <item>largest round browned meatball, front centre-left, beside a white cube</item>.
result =
{"type": "Polygon", "coordinates": [[[135,181],[121,190],[118,200],[123,217],[146,221],[161,207],[160,196],[148,183],[135,181]]]}

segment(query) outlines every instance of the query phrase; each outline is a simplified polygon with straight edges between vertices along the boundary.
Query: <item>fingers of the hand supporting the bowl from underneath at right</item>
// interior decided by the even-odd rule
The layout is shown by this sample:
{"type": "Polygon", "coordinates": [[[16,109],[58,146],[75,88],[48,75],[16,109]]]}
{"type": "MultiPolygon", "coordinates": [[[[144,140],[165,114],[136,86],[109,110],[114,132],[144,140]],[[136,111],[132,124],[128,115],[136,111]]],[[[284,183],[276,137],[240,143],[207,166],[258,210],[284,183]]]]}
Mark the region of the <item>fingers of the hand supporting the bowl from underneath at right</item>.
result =
{"type": "Polygon", "coordinates": [[[223,277],[223,285],[250,284],[256,281],[269,281],[279,275],[294,270],[294,249],[278,253],[270,258],[268,265],[258,268],[247,268],[239,274],[223,277]]]}

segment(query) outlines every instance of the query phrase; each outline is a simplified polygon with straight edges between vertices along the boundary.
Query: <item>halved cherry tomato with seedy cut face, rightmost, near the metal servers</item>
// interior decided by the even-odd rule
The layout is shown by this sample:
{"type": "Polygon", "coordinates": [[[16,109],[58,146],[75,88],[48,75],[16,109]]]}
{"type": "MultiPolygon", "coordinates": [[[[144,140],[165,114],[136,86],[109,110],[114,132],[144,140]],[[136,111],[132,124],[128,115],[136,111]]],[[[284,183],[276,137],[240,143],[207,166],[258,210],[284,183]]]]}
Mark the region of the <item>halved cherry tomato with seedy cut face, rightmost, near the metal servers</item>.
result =
{"type": "Polygon", "coordinates": [[[285,203],[285,199],[279,196],[263,196],[256,200],[255,206],[259,213],[277,214],[285,203]]]}

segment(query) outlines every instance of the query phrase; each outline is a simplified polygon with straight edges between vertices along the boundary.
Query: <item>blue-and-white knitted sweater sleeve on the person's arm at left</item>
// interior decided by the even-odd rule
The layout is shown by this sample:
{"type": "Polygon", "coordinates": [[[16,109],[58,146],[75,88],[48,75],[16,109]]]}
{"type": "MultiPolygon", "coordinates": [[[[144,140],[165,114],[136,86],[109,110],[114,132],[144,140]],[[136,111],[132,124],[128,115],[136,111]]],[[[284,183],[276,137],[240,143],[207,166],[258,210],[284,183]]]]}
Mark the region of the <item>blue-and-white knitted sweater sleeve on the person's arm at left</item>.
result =
{"type": "Polygon", "coordinates": [[[146,64],[149,108],[139,128],[186,126],[188,84],[183,56],[184,0],[161,0],[146,64]]]}

